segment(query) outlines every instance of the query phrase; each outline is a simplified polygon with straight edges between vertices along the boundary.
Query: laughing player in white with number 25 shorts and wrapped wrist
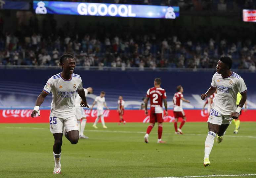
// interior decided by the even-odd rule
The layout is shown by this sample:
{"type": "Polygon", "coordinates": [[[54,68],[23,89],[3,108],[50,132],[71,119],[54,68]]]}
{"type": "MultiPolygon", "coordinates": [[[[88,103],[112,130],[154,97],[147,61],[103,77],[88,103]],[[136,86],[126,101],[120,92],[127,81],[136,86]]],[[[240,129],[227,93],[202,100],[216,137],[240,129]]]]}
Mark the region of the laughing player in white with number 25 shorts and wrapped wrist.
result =
{"type": "Polygon", "coordinates": [[[55,174],[61,173],[61,146],[63,131],[71,144],[76,144],[79,140],[78,122],[75,116],[75,92],[82,98],[81,107],[88,107],[86,96],[83,90],[82,79],[74,74],[75,59],[70,54],[64,54],[60,58],[59,66],[62,72],[52,76],[46,83],[43,91],[37,97],[35,108],[31,117],[36,114],[40,116],[39,107],[44,98],[52,92],[53,101],[50,113],[50,131],[53,133],[54,145],[53,156],[55,161],[55,174]],[[64,129],[65,127],[65,129],[64,129]]]}

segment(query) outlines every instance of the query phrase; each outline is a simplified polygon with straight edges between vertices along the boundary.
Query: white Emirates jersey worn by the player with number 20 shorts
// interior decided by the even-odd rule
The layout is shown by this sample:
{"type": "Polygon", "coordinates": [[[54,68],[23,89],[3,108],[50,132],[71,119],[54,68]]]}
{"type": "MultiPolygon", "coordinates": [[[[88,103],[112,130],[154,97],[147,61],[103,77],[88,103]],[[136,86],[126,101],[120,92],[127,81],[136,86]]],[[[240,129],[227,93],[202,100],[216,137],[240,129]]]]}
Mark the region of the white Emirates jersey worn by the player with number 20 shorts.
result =
{"type": "Polygon", "coordinates": [[[212,108],[222,115],[230,115],[236,110],[237,93],[247,91],[246,85],[241,76],[232,72],[231,76],[224,78],[217,72],[212,77],[213,87],[217,87],[217,94],[212,108]]]}

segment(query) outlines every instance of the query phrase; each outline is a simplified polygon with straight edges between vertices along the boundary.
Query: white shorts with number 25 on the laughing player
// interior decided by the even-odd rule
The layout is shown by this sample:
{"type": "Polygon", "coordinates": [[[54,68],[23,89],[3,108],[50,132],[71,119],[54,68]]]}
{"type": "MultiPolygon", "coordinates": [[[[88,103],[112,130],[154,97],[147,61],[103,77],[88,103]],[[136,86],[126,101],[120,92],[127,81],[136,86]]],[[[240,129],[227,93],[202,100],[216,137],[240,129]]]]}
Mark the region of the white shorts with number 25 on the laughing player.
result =
{"type": "Polygon", "coordinates": [[[64,127],[66,132],[71,130],[79,131],[79,122],[76,120],[76,116],[68,116],[65,118],[56,117],[53,113],[50,114],[50,131],[53,134],[63,133],[64,127]]]}

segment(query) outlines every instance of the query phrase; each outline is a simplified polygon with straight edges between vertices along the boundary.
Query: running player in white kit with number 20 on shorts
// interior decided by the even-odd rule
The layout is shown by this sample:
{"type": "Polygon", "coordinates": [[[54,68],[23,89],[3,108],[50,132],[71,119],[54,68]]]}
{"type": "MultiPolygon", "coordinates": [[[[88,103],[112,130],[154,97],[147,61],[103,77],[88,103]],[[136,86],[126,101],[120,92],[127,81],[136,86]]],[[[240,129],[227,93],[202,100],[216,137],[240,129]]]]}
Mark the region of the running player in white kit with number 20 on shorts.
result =
{"type": "Polygon", "coordinates": [[[203,165],[210,165],[209,155],[217,135],[217,143],[223,140],[226,129],[232,119],[237,119],[246,101],[246,85],[241,76],[231,71],[232,60],[230,57],[221,57],[216,66],[217,72],[212,77],[211,87],[205,94],[201,94],[204,100],[217,89],[217,94],[212,104],[208,118],[208,136],[205,140],[203,165]],[[239,105],[236,108],[237,93],[242,95],[239,105]]]}

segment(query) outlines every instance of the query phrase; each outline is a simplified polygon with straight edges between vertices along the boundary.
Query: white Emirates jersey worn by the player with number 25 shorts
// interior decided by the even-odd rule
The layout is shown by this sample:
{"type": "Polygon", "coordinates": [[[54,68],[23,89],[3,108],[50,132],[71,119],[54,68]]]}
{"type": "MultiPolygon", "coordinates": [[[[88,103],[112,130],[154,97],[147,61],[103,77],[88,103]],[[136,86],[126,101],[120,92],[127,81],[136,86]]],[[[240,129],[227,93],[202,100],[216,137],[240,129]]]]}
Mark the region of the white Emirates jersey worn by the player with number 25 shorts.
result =
{"type": "Polygon", "coordinates": [[[83,89],[79,75],[73,73],[69,80],[65,80],[61,73],[52,76],[43,89],[47,94],[52,92],[51,113],[62,118],[75,115],[75,91],[77,89],[83,89]]]}

